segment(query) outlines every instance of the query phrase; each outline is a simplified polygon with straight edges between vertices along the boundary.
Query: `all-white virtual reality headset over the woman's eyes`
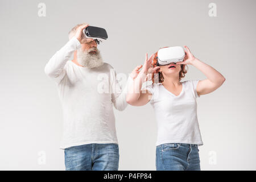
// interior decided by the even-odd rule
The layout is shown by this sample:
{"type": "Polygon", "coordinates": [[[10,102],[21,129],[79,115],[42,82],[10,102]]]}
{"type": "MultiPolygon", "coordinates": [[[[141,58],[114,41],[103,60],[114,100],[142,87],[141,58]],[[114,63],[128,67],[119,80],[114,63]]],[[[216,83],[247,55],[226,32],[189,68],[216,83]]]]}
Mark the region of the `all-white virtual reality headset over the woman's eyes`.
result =
{"type": "Polygon", "coordinates": [[[177,63],[183,61],[185,57],[185,51],[183,47],[167,47],[159,49],[158,51],[158,65],[167,65],[170,63],[177,63]]]}

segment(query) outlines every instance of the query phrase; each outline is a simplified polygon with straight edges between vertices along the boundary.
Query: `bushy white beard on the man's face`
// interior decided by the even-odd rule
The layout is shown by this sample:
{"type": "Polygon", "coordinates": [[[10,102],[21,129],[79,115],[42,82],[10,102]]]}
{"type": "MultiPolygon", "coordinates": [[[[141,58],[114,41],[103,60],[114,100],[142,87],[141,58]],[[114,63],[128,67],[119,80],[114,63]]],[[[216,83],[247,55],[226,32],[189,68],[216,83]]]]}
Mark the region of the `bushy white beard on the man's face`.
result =
{"type": "Polygon", "coordinates": [[[77,62],[87,68],[97,68],[103,64],[100,51],[97,48],[90,48],[87,51],[82,51],[82,48],[78,49],[77,62]],[[96,51],[96,53],[89,53],[90,51],[96,51]]]}

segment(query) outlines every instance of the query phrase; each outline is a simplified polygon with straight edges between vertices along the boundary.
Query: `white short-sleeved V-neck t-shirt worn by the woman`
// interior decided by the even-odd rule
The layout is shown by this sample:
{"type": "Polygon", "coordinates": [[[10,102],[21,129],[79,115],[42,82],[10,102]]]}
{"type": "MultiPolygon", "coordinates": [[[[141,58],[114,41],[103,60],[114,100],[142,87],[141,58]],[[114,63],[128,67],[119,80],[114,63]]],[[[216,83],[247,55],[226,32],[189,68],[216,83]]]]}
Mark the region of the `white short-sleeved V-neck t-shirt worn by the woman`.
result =
{"type": "Polygon", "coordinates": [[[183,81],[182,91],[175,96],[158,83],[146,86],[152,93],[150,104],[155,110],[158,124],[156,146],[164,143],[189,143],[203,145],[197,121],[196,92],[199,80],[183,81]]]}

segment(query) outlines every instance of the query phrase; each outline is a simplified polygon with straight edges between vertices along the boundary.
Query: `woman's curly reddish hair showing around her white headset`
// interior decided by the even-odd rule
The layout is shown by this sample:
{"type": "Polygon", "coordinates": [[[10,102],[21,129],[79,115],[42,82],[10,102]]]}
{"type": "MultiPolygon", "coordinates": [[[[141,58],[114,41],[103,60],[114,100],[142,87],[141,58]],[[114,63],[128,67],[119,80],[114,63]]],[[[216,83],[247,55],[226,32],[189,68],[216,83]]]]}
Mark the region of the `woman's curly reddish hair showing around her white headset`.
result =
{"type": "MultiPolygon", "coordinates": [[[[158,52],[155,53],[152,59],[152,67],[155,68],[158,66],[158,52]]],[[[185,77],[185,73],[187,73],[187,69],[185,69],[185,64],[180,64],[181,71],[179,72],[179,81],[181,78],[185,77]]],[[[155,78],[158,79],[159,83],[164,81],[164,77],[162,72],[159,72],[159,69],[152,73],[152,84],[155,83],[155,78]]]]}

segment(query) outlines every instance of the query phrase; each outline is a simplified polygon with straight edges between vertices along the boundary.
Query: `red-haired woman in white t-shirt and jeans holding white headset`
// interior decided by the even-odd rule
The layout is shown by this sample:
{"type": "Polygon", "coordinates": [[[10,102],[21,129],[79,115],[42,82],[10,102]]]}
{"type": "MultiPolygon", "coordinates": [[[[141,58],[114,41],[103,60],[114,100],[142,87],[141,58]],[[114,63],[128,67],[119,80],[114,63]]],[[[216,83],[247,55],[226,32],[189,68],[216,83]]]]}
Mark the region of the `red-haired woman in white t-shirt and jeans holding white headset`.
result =
{"type": "Polygon", "coordinates": [[[143,67],[138,66],[130,75],[134,83],[129,88],[126,101],[133,106],[150,102],[155,111],[158,123],[156,170],[200,170],[198,146],[203,142],[197,121],[196,98],[213,92],[225,81],[221,73],[196,59],[189,48],[184,47],[183,61],[158,67],[158,52],[150,59],[146,54],[143,67]],[[181,82],[187,73],[187,64],[203,72],[207,79],[181,82]],[[142,89],[149,73],[154,73],[153,83],[142,89]]]}

